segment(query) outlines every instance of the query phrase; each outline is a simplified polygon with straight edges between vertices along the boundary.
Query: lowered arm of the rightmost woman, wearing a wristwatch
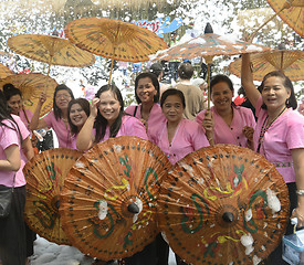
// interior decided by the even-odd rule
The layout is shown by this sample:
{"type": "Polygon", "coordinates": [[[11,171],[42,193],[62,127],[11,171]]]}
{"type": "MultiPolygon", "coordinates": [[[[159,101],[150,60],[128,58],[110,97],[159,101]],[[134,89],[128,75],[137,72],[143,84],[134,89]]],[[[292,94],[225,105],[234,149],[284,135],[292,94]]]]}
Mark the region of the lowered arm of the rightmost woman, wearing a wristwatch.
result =
{"type": "MultiPolygon", "coordinates": [[[[292,149],[296,189],[304,191],[304,148],[292,149]]],[[[297,195],[297,208],[292,214],[297,218],[297,226],[304,225],[304,194],[297,195]]]]}

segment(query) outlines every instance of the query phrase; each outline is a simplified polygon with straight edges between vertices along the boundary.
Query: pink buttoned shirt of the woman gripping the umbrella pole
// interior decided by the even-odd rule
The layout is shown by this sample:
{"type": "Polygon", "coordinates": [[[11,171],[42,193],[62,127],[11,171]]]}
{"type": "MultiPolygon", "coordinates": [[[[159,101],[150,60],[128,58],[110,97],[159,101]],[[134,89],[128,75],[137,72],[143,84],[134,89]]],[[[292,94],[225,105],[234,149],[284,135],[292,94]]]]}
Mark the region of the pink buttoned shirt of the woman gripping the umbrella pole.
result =
{"type": "MultiPolygon", "coordinates": [[[[255,119],[250,108],[235,106],[233,109],[233,118],[231,125],[228,126],[223,118],[217,113],[214,107],[211,107],[214,119],[213,139],[214,144],[230,144],[241,147],[247,147],[247,137],[242,132],[245,126],[255,128],[255,119]]],[[[200,112],[196,121],[201,125],[207,109],[200,112]]]]}

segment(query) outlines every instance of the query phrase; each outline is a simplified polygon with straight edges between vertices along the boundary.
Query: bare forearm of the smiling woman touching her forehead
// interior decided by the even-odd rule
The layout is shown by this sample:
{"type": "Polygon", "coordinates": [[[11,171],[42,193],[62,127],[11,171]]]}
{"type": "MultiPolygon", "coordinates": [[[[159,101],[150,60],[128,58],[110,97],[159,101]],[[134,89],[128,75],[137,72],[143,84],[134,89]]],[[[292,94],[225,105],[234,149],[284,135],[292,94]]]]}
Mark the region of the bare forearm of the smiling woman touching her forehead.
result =
{"type": "Polygon", "coordinates": [[[81,151],[86,151],[94,145],[93,126],[97,116],[97,105],[99,98],[94,98],[91,104],[91,113],[81,131],[77,135],[76,147],[81,151]]]}

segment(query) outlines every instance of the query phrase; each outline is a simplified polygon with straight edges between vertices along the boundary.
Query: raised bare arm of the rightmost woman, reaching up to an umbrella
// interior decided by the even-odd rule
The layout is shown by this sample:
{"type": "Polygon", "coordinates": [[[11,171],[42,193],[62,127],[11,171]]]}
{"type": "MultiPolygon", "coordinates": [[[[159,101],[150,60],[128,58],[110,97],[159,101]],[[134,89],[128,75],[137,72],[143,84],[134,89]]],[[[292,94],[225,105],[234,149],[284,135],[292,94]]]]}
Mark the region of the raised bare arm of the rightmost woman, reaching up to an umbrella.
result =
{"type": "Polygon", "coordinates": [[[241,83],[245,89],[245,95],[248,99],[255,108],[256,102],[260,97],[260,92],[255,88],[253,84],[253,76],[250,68],[250,55],[248,53],[242,54],[241,83]]]}

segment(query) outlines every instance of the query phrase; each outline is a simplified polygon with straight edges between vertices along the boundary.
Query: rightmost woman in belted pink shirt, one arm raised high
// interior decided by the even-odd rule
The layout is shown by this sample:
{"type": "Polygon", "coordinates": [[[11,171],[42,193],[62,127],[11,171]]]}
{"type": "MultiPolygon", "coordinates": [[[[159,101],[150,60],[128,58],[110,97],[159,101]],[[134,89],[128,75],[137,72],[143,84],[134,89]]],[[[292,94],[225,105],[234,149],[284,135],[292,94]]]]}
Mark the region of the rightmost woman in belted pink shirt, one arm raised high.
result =
{"type": "MultiPolygon", "coordinates": [[[[304,225],[304,117],[296,109],[293,85],[279,71],[266,74],[260,93],[250,71],[249,54],[242,55],[242,86],[258,117],[254,148],[272,162],[283,176],[290,192],[291,211],[297,225],[304,225]]],[[[286,234],[293,233],[291,223],[286,234]]],[[[282,259],[282,245],[266,264],[287,264],[282,259]]]]}

